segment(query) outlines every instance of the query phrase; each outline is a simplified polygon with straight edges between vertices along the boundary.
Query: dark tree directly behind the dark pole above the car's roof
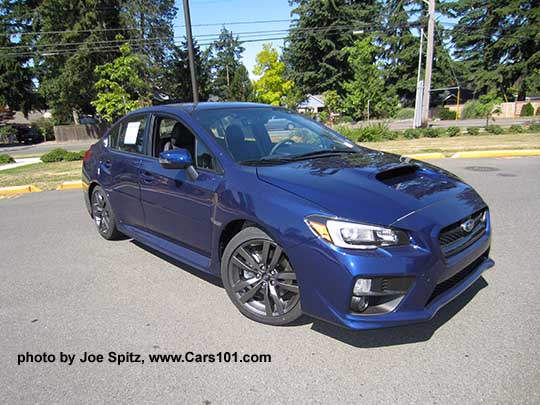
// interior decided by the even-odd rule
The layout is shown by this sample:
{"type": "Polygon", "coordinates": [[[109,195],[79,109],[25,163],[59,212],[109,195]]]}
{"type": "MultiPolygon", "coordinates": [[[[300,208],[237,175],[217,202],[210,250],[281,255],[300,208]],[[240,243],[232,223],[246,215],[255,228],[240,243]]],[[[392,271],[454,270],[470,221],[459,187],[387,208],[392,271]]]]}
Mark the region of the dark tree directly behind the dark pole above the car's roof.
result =
{"type": "MultiPolygon", "coordinates": [[[[208,51],[201,52],[197,41],[194,40],[193,53],[199,99],[207,100],[211,86],[208,51]]],[[[180,46],[174,47],[165,66],[165,84],[162,86],[162,91],[172,100],[179,102],[192,101],[191,72],[189,70],[187,41],[185,39],[180,46]]]]}

